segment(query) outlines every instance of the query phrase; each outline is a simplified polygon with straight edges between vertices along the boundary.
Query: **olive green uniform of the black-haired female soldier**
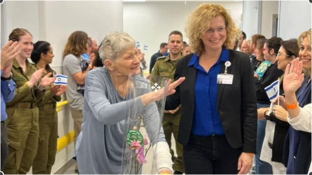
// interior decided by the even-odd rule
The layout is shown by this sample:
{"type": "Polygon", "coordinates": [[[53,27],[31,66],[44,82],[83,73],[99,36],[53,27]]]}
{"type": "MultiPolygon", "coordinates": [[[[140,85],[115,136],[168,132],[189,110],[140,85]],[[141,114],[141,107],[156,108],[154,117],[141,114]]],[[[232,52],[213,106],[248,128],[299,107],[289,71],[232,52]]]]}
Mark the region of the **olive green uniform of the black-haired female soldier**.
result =
{"type": "MultiPolygon", "coordinates": [[[[57,74],[54,70],[48,71],[57,74]]],[[[42,77],[46,74],[43,73],[42,77]]],[[[61,97],[52,95],[52,86],[46,87],[43,98],[37,102],[39,108],[39,145],[32,167],[34,175],[50,175],[57,154],[58,113],[56,102],[59,102],[61,97]]]]}

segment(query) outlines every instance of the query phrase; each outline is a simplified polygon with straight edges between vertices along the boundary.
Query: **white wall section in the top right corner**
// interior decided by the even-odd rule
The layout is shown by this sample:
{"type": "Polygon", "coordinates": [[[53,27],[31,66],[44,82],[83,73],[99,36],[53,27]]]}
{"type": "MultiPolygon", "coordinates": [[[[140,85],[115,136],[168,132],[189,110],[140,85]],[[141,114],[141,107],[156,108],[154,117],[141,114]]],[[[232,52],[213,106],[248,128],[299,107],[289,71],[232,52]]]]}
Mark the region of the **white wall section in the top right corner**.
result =
{"type": "Polygon", "coordinates": [[[311,29],[311,7],[308,0],[280,1],[278,36],[284,40],[298,38],[311,29]]]}

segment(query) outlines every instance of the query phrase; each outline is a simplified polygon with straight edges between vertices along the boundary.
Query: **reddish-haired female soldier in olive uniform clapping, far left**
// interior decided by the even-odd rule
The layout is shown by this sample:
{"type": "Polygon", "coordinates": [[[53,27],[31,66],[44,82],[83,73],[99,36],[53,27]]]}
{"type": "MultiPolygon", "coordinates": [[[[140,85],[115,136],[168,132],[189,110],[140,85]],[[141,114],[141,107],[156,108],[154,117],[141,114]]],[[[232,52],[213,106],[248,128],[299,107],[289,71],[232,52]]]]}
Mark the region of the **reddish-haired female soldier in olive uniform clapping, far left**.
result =
{"type": "Polygon", "coordinates": [[[9,40],[18,41],[20,54],[13,60],[11,70],[16,83],[15,97],[6,104],[9,155],[4,174],[26,174],[38,147],[39,111],[36,100],[43,97],[45,86],[51,85],[55,78],[49,78],[48,74],[39,81],[43,70],[37,70],[27,60],[33,51],[33,38],[27,30],[14,29],[9,40]]]}

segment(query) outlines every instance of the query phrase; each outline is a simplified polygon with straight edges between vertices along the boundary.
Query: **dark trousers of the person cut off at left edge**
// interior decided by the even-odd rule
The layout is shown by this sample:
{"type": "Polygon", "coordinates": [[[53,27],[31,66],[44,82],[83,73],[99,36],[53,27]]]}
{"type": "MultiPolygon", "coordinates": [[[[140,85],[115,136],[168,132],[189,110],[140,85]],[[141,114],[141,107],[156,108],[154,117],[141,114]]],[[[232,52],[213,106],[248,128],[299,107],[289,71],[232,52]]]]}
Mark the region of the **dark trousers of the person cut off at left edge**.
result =
{"type": "Polygon", "coordinates": [[[4,124],[4,122],[1,122],[1,172],[3,172],[4,169],[4,163],[5,163],[5,159],[8,157],[8,133],[7,133],[7,129],[6,129],[6,125],[4,124]]]}

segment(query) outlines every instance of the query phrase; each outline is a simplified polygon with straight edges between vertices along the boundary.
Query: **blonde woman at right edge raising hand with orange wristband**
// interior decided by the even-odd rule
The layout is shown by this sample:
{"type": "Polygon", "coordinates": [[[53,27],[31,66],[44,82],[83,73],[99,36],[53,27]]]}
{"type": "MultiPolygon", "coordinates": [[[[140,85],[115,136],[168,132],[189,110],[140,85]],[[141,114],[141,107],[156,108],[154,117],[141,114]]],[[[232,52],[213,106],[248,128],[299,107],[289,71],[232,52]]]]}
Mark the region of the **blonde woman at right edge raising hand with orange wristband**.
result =
{"type": "MultiPolygon", "coordinates": [[[[291,90],[286,93],[289,89],[286,89],[284,86],[286,98],[284,107],[287,108],[288,111],[295,110],[297,106],[303,107],[307,104],[311,104],[311,31],[306,31],[299,35],[298,45],[300,48],[299,58],[302,62],[303,69],[308,71],[308,75],[304,78],[301,87],[296,91],[291,90]],[[294,95],[297,99],[293,98],[294,95]]],[[[292,74],[296,73],[296,70],[291,67],[289,71],[285,73],[287,72],[292,74]]],[[[301,78],[302,77],[300,77],[300,79],[301,78]]],[[[293,81],[287,80],[288,82],[293,81]]],[[[286,82],[287,81],[285,81],[285,84],[286,82]]],[[[285,98],[280,96],[280,101],[285,102],[285,98]]],[[[291,111],[289,111],[289,113],[291,114],[291,111]]],[[[289,175],[307,175],[309,173],[311,164],[311,132],[299,131],[292,126],[289,128],[285,139],[283,164],[287,166],[286,173],[289,175]]]]}

